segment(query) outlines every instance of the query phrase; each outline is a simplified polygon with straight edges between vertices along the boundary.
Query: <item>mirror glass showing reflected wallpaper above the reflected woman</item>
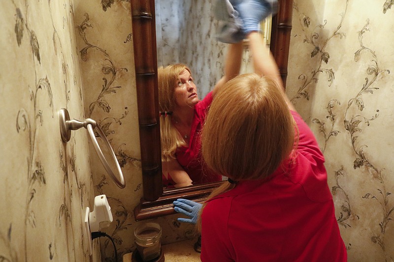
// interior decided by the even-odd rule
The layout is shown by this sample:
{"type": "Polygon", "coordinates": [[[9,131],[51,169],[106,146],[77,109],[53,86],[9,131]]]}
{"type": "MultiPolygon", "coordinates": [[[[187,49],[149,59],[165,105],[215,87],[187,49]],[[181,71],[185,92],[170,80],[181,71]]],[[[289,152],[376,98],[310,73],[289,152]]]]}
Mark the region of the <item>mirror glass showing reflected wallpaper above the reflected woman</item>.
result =
{"type": "MultiPolygon", "coordinates": [[[[218,22],[212,12],[213,2],[155,0],[158,66],[187,64],[199,99],[204,98],[223,76],[228,46],[215,37],[218,22]]],[[[262,37],[269,45],[271,17],[262,22],[261,28],[262,37]]],[[[241,73],[253,72],[247,41],[244,44],[241,73]]]]}

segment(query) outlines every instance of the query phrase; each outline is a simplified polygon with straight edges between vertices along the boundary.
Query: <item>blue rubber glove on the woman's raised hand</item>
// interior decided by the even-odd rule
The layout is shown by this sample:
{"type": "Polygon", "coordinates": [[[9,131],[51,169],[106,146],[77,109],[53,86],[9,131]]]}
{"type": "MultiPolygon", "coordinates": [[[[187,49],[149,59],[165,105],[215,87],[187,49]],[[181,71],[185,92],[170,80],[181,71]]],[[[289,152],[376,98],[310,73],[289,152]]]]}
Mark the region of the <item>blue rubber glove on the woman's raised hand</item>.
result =
{"type": "Polygon", "coordinates": [[[260,22],[272,12],[267,0],[230,0],[243,22],[243,32],[260,31],[260,22]]]}

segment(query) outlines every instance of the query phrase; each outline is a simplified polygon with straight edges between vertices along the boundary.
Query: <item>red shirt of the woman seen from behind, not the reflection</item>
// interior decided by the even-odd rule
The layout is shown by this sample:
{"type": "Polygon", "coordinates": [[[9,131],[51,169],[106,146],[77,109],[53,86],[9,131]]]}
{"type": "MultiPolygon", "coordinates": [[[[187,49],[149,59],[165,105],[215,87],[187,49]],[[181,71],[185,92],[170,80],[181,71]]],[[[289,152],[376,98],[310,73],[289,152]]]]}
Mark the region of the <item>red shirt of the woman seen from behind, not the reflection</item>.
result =
{"type": "Polygon", "coordinates": [[[202,262],[347,261],[324,156],[306,123],[292,115],[299,130],[296,163],[269,180],[240,181],[207,202],[202,262]]]}

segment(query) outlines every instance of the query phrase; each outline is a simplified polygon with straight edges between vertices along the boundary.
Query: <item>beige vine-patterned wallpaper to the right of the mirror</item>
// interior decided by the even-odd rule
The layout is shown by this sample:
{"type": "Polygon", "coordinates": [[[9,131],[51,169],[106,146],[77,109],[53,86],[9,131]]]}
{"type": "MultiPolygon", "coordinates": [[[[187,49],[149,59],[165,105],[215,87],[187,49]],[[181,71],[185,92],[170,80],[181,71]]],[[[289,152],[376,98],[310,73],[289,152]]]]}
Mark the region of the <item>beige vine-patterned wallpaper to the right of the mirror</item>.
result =
{"type": "Polygon", "coordinates": [[[287,93],[326,157],[350,262],[394,261],[392,0],[294,0],[287,93]]]}

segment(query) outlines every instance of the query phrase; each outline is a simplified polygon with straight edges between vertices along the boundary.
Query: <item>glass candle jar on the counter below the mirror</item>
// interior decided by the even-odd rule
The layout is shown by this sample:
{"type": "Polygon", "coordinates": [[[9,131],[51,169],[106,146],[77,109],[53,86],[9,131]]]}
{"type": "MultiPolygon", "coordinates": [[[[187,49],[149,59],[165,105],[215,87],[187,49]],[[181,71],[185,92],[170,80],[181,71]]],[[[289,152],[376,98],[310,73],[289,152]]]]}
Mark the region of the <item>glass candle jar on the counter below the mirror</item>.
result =
{"type": "Polygon", "coordinates": [[[160,256],[162,227],[155,222],[138,226],[134,231],[135,244],[143,261],[150,261],[160,256]]]}

